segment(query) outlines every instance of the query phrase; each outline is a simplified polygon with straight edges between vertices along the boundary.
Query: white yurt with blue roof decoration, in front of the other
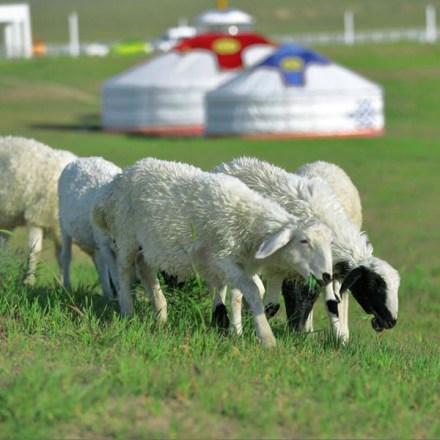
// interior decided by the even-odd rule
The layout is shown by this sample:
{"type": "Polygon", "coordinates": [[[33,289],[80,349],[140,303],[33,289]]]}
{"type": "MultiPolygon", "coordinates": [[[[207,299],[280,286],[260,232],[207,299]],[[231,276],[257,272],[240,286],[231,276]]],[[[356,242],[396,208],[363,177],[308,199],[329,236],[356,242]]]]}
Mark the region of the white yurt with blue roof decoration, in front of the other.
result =
{"type": "Polygon", "coordinates": [[[284,44],[206,95],[207,136],[383,133],[383,91],[324,56],[284,44]]]}

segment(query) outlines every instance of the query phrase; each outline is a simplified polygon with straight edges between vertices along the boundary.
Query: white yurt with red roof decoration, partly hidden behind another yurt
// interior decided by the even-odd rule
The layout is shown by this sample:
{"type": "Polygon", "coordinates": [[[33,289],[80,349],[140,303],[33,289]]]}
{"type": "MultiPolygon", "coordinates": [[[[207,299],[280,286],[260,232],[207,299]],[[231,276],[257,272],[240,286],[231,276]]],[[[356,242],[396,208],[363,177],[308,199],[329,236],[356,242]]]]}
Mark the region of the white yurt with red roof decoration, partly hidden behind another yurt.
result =
{"type": "Polygon", "coordinates": [[[204,33],[107,80],[104,130],[151,135],[202,134],[204,97],[243,67],[264,59],[273,44],[253,32],[204,33]]]}

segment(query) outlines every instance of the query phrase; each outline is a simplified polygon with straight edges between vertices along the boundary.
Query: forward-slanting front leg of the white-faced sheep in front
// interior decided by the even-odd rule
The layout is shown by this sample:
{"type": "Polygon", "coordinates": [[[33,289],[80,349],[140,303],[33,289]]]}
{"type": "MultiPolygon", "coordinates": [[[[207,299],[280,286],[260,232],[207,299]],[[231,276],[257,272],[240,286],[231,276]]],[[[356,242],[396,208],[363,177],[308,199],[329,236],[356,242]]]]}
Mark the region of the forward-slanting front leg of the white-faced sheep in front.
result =
{"type": "Polygon", "coordinates": [[[256,275],[247,275],[243,269],[235,264],[225,264],[224,273],[227,283],[232,289],[237,289],[244,295],[249,304],[252,315],[254,317],[257,336],[261,343],[266,347],[274,347],[276,345],[275,337],[264,314],[263,301],[261,299],[260,287],[256,283],[256,275]]]}

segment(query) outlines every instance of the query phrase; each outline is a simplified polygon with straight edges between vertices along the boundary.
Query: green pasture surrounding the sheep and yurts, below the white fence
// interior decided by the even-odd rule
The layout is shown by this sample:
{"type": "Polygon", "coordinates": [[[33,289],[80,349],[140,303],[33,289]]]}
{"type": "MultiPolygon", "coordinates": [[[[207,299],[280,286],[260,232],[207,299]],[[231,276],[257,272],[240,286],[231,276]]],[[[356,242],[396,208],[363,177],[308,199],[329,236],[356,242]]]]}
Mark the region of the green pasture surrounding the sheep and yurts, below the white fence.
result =
{"type": "Polygon", "coordinates": [[[352,301],[351,342],[317,332],[258,346],[210,328],[203,283],[166,292],[158,326],[138,295],[135,318],[105,304],[90,261],[75,254],[73,292],[56,281],[50,243],[33,288],[20,282],[23,231],[0,253],[0,437],[440,437],[440,48],[384,45],[325,54],[380,82],[386,135],[371,139],[145,138],[96,129],[102,81],[137,58],[0,61],[0,134],[34,137],[125,166],[145,157],[210,169],[247,154],[294,170],[323,159],[358,186],[375,254],[402,275],[395,329],[375,334],[352,301]],[[16,253],[19,253],[17,256],[16,253]]]}

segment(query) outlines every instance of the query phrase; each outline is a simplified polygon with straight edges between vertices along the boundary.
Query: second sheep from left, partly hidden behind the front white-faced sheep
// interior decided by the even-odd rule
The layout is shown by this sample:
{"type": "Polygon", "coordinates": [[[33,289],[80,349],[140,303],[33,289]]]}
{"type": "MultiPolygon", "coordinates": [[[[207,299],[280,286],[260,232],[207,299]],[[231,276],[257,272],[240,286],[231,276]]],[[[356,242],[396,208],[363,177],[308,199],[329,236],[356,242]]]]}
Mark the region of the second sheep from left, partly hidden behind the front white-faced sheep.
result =
{"type": "Polygon", "coordinates": [[[58,181],[64,287],[70,288],[73,241],[92,257],[104,295],[109,301],[113,297],[112,284],[117,290],[113,241],[93,226],[90,210],[98,190],[121,171],[102,157],[84,157],[69,163],[58,181]]]}

